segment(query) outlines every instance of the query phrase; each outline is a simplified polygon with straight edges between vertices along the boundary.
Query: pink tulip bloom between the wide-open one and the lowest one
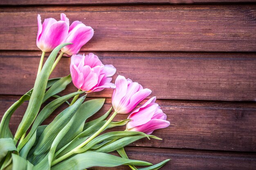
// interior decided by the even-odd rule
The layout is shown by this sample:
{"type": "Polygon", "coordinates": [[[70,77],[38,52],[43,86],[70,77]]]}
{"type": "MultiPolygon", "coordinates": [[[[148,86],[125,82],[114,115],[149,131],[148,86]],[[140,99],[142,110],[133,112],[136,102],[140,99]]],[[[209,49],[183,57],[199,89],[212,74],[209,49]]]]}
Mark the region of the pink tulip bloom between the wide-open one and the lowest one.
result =
{"type": "Polygon", "coordinates": [[[112,105],[117,113],[131,112],[139,102],[150,95],[151,90],[144,88],[137,82],[132,82],[124,76],[117,76],[115,81],[117,88],[112,95],[112,105]]]}

